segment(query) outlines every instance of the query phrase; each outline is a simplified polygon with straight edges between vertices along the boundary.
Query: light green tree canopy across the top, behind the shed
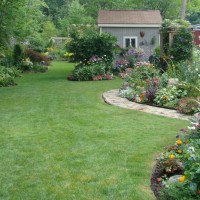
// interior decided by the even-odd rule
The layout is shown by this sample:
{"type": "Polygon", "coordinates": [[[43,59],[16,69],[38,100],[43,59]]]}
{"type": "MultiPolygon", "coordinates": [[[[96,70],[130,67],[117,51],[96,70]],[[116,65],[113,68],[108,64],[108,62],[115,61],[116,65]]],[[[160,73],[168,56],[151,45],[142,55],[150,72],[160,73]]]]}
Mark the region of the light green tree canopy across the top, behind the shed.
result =
{"type": "MultiPolygon", "coordinates": [[[[66,36],[71,24],[96,24],[100,9],[158,9],[163,19],[179,19],[183,0],[1,0],[0,48],[11,40],[66,36]]],[[[199,0],[188,0],[186,18],[199,23],[199,0]]]]}

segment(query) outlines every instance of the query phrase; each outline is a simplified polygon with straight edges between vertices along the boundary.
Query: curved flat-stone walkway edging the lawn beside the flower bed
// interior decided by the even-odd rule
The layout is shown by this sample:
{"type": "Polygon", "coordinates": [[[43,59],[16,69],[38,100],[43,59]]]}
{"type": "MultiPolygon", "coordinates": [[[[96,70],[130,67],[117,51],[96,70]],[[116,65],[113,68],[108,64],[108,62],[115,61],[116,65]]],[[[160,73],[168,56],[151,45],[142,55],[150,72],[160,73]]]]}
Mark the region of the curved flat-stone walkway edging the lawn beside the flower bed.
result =
{"type": "Polygon", "coordinates": [[[118,96],[118,90],[110,90],[108,92],[103,93],[103,99],[106,103],[119,106],[122,108],[127,108],[131,110],[139,110],[146,113],[151,113],[155,115],[161,115],[165,117],[171,117],[182,120],[189,120],[191,116],[180,114],[176,112],[176,110],[166,109],[166,108],[158,108],[154,106],[138,104],[132,101],[129,101],[126,98],[121,98],[118,96]]]}

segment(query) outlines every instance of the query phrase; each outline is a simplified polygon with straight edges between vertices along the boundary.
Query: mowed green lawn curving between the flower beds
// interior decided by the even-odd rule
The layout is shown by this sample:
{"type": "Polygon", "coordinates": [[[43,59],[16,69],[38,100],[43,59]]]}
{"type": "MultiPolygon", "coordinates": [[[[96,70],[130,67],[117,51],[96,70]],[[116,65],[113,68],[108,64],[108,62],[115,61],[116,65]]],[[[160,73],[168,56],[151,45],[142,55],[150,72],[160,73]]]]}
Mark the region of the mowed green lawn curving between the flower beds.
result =
{"type": "Polygon", "coordinates": [[[122,80],[67,81],[72,69],[0,88],[0,199],[155,199],[155,159],[188,122],[107,105],[122,80]]]}

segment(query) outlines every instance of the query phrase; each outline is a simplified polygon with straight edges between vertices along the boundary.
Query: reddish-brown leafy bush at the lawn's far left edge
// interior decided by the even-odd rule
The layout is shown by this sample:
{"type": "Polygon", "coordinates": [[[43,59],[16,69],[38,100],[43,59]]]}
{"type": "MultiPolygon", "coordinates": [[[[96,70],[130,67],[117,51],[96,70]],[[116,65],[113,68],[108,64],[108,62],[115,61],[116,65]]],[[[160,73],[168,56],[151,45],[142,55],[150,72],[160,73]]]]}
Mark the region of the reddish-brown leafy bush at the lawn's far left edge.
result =
{"type": "Polygon", "coordinates": [[[39,52],[36,52],[32,49],[26,49],[25,51],[25,56],[28,57],[30,59],[31,62],[34,63],[44,63],[45,65],[50,65],[50,59],[42,54],[42,53],[39,53],[39,52]]]}

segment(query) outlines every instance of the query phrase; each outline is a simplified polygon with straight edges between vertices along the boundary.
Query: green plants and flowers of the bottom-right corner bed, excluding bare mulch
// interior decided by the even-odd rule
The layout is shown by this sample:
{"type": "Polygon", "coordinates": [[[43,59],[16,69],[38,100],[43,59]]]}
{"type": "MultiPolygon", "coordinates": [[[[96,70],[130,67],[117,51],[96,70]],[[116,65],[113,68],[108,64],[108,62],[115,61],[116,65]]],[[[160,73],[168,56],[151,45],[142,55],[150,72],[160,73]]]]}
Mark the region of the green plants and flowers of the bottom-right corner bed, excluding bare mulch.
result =
{"type": "MultiPolygon", "coordinates": [[[[160,198],[167,199],[199,199],[200,195],[200,114],[196,113],[191,120],[192,126],[188,129],[180,129],[180,134],[176,136],[174,145],[168,147],[167,151],[161,154],[159,162],[169,163],[170,173],[175,175],[172,163],[180,163],[182,176],[174,183],[164,180],[164,189],[160,193],[160,198]],[[172,162],[173,161],[173,162],[172,162]],[[170,163],[171,162],[171,163],[170,163]],[[184,198],[183,198],[184,197],[184,198]]],[[[179,171],[180,172],[180,171],[179,171]]],[[[169,176],[168,176],[169,177],[169,176]]],[[[166,178],[165,178],[166,179],[166,178]]],[[[167,178],[168,179],[168,178],[167,178]]]]}

